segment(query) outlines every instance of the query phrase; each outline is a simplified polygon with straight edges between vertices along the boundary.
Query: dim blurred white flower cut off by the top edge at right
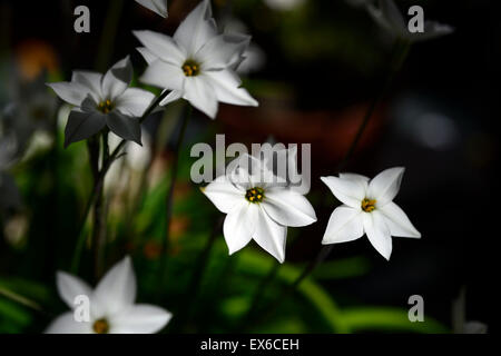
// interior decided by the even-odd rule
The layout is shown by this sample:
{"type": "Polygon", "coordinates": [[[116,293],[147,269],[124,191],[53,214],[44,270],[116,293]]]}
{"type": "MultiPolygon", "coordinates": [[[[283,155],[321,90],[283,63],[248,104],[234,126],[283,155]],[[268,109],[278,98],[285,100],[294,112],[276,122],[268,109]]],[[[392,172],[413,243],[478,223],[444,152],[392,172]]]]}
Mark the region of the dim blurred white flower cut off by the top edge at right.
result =
{"type": "Polygon", "coordinates": [[[452,33],[454,29],[448,24],[435,21],[424,21],[424,32],[412,33],[409,31],[407,22],[400,12],[393,0],[380,0],[379,8],[373,1],[365,1],[366,9],[374,21],[390,33],[409,40],[423,41],[452,33]]]}

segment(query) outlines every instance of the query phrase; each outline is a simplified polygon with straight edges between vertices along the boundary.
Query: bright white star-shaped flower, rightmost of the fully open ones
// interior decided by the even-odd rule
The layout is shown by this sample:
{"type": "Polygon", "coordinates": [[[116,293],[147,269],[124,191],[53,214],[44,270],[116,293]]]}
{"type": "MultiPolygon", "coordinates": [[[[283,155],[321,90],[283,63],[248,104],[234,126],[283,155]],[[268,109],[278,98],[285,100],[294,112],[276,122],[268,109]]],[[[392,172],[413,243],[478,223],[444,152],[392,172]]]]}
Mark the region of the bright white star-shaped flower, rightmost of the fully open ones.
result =
{"type": "Polygon", "coordinates": [[[352,241],[366,234],[374,248],[390,259],[392,236],[420,238],[421,234],[405,212],[392,201],[399,192],[403,172],[401,167],[386,169],[371,181],[354,174],[322,177],[343,202],[331,215],[322,244],[352,241]]]}

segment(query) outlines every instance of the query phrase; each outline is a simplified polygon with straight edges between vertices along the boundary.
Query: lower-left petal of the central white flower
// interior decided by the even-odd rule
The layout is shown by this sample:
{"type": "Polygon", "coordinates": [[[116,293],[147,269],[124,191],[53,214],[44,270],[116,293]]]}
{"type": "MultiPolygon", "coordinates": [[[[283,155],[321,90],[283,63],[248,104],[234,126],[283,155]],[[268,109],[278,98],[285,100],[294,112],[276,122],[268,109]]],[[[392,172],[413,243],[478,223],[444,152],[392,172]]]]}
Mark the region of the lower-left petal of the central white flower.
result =
{"type": "Polygon", "coordinates": [[[229,255],[240,250],[250,241],[256,230],[258,209],[255,204],[244,200],[226,216],[223,233],[229,255]]]}

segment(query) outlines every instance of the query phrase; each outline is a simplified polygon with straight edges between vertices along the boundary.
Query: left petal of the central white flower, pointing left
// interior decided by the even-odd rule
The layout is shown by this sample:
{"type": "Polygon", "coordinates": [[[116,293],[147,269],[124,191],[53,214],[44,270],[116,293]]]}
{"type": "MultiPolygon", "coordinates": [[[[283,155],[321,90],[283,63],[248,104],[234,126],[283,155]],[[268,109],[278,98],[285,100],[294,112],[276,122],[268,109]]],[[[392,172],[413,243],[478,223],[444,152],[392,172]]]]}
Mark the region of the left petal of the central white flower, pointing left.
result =
{"type": "Polygon", "coordinates": [[[202,190],[219,211],[228,214],[245,199],[245,191],[237,189],[226,177],[217,177],[202,190]]]}

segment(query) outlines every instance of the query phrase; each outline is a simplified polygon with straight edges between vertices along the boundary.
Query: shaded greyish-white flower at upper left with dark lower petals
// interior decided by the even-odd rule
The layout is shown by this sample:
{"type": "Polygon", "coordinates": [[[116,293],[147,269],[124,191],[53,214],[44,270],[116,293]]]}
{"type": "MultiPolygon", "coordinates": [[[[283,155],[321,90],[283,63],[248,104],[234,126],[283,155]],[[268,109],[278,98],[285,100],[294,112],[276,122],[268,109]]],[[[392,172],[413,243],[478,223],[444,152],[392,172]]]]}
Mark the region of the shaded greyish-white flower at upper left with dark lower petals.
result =
{"type": "Polygon", "coordinates": [[[146,90],[128,88],[132,80],[129,57],[118,61],[102,76],[92,71],[73,71],[71,82],[48,86],[71,110],[65,130],[65,146],[98,134],[105,126],[124,139],[140,145],[143,116],[155,96],[146,90]]]}

